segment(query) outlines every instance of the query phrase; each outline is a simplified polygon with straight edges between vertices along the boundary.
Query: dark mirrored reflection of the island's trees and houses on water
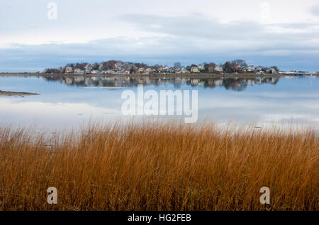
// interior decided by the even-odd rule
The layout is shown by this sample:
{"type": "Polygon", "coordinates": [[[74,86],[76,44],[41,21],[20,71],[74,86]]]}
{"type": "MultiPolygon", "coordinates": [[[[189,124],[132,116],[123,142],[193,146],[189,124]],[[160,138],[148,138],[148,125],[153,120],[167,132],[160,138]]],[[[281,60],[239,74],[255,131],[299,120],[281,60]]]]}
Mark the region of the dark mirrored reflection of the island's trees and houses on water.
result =
{"type": "Polygon", "coordinates": [[[62,84],[74,85],[79,87],[135,87],[138,84],[161,85],[173,84],[179,88],[182,85],[191,87],[214,88],[223,86],[225,89],[231,89],[237,92],[245,90],[247,86],[254,84],[276,84],[279,77],[255,77],[255,78],[208,78],[196,79],[185,77],[174,78],[151,78],[151,77],[86,77],[86,76],[52,76],[43,77],[48,82],[60,82],[62,84]]]}

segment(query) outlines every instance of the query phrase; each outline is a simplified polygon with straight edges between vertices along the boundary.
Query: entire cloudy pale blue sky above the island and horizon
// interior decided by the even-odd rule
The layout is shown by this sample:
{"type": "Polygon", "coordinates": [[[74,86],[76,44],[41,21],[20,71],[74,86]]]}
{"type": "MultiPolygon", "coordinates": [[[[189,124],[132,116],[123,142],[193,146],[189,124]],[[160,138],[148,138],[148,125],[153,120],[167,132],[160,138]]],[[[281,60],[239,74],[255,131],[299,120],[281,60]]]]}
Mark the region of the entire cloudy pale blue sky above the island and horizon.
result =
{"type": "Polygon", "coordinates": [[[0,0],[0,72],[68,62],[319,71],[318,0],[0,0]]]}

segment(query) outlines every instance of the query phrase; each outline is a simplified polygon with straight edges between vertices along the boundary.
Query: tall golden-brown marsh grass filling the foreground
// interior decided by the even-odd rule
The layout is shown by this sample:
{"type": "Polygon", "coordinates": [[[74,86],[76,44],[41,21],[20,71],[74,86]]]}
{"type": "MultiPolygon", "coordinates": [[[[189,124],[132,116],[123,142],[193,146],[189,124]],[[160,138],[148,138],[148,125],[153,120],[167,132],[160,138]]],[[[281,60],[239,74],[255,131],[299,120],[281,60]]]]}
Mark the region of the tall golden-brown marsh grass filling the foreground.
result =
{"type": "Polygon", "coordinates": [[[318,153],[312,128],[118,123],[48,138],[0,126],[0,209],[318,210],[318,153]]]}

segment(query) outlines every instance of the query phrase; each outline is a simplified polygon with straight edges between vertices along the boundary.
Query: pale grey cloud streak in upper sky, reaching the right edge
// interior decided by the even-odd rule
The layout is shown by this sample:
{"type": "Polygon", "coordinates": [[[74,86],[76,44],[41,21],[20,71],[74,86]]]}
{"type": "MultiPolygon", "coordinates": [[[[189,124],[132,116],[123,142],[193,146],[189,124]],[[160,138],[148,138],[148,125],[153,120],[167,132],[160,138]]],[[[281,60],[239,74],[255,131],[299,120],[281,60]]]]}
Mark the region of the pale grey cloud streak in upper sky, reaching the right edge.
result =
{"type": "Polygon", "coordinates": [[[217,19],[201,14],[190,16],[151,16],[130,14],[118,17],[131,23],[136,29],[151,33],[178,35],[211,40],[309,40],[318,38],[317,23],[278,23],[262,25],[254,21],[233,21],[220,23],[217,19]],[[272,28],[301,29],[303,33],[276,33],[272,28]],[[308,30],[307,30],[308,29],[308,30]]]}

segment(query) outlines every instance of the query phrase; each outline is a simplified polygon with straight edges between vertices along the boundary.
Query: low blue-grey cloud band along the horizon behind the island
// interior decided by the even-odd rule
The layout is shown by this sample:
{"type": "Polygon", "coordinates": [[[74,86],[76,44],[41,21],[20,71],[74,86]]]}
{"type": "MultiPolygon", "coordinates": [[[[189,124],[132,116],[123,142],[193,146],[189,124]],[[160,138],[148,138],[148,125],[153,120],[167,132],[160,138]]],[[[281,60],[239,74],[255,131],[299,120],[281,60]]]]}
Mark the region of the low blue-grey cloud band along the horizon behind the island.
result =
{"type": "Polygon", "coordinates": [[[13,45],[0,49],[0,71],[38,71],[67,62],[123,60],[172,65],[200,62],[223,63],[242,58],[254,65],[278,65],[281,69],[319,70],[319,49],[279,42],[263,46],[234,46],[210,40],[201,43],[194,37],[168,36],[145,38],[107,38],[84,44],[13,45]],[[203,45],[203,46],[202,46],[203,45]]]}

